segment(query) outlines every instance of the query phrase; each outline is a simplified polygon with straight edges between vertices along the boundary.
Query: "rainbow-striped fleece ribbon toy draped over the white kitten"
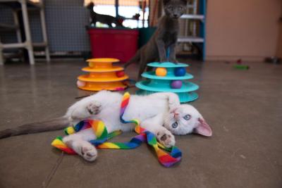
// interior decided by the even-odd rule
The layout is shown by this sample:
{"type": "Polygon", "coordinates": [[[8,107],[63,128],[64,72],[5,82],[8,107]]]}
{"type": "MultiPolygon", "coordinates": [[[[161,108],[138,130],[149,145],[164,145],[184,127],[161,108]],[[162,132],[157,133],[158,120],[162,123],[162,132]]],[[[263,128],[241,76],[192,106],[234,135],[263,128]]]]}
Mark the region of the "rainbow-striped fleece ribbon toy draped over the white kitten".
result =
{"type": "MultiPolygon", "coordinates": [[[[181,160],[182,153],[176,146],[166,148],[165,146],[157,142],[157,138],[154,136],[154,134],[140,127],[140,123],[136,119],[129,121],[123,120],[123,113],[128,106],[129,99],[130,94],[126,92],[123,96],[123,101],[121,102],[120,115],[122,123],[135,123],[135,132],[137,132],[138,135],[130,139],[129,142],[106,142],[107,140],[116,137],[118,134],[121,134],[121,131],[118,130],[108,133],[106,126],[101,120],[83,120],[73,127],[66,128],[65,133],[73,134],[75,132],[79,132],[80,130],[92,128],[94,134],[96,134],[97,139],[90,140],[89,142],[96,146],[98,149],[135,149],[143,142],[147,142],[147,144],[149,144],[149,146],[152,146],[152,148],[156,152],[159,163],[161,163],[161,165],[170,167],[171,165],[178,163],[181,160]]],[[[68,148],[68,146],[63,143],[62,137],[57,137],[56,139],[54,139],[51,145],[68,154],[76,154],[73,149],[68,148]]]]}

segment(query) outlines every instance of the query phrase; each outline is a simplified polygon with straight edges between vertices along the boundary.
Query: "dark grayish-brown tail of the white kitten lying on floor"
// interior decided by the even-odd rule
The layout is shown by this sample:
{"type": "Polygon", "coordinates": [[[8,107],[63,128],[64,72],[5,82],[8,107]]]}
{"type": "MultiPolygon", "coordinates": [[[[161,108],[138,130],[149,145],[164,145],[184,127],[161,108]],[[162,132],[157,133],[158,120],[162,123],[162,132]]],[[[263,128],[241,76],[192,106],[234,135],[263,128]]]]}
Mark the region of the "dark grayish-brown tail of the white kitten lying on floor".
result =
{"type": "Polygon", "coordinates": [[[15,128],[0,131],[0,139],[13,137],[21,134],[32,134],[37,132],[48,132],[54,130],[62,130],[70,125],[68,118],[61,117],[52,120],[42,121],[38,123],[27,123],[15,128]]]}

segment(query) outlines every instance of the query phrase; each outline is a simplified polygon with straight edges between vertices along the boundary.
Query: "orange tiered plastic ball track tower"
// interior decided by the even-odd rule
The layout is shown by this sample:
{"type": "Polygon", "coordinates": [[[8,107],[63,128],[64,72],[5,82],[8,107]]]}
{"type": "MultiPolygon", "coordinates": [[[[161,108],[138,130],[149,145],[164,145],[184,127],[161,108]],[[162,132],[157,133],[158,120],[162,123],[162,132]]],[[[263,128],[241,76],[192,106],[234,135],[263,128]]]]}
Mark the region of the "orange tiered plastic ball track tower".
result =
{"type": "Polygon", "coordinates": [[[124,83],[128,76],[122,67],[114,66],[119,62],[116,58],[92,58],[87,60],[89,66],[82,68],[87,75],[78,77],[77,86],[88,91],[100,91],[102,89],[118,91],[127,87],[124,83]]]}

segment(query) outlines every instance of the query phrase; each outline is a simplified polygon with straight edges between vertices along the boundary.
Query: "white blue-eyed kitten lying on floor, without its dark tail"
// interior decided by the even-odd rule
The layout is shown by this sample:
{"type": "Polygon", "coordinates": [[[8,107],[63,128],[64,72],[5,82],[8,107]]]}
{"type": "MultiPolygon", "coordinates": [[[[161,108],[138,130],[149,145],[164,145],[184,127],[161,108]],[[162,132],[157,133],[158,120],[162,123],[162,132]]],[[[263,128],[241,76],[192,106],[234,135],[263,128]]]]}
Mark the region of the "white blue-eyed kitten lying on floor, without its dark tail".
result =
{"type": "MultiPolygon", "coordinates": [[[[68,108],[65,117],[73,124],[87,119],[102,120],[108,132],[131,131],[134,125],[123,124],[119,119],[122,99],[123,96],[118,93],[98,92],[73,104],[68,108]]],[[[173,93],[130,96],[123,118],[140,120],[140,125],[153,132],[158,141],[167,147],[176,143],[173,134],[197,132],[204,136],[212,136],[212,130],[202,115],[188,104],[180,105],[178,96],[173,93]]],[[[94,161],[97,158],[97,150],[87,141],[95,138],[92,129],[88,129],[64,137],[63,142],[85,160],[94,161]]]]}

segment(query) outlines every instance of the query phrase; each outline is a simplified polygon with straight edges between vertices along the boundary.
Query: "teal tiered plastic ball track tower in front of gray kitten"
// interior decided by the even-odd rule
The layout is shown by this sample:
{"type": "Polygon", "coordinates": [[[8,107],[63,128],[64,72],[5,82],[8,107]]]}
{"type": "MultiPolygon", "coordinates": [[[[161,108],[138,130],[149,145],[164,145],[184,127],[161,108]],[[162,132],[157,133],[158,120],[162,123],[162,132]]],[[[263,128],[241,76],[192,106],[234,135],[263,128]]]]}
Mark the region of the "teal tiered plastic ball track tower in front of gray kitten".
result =
{"type": "Polygon", "coordinates": [[[180,74],[181,76],[175,75],[176,68],[186,68],[187,64],[184,63],[149,63],[148,66],[153,68],[166,68],[165,76],[157,76],[155,71],[145,72],[142,77],[147,78],[147,80],[142,80],[136,83],[136,87],[139,90],[136,92],[139,95],[153,94],[156,92],[173,92],[178,94],[180,102],[190,102],[195,101],[198,98],[198,94],[195,92],[199,89],[197,84],[188,82],[187,80],[192,79],[193,76],[189,73],[180,74]],[[173,89],[171,87],[171,82],[180,80],[182,85],[179,89],[173,89]]]}

